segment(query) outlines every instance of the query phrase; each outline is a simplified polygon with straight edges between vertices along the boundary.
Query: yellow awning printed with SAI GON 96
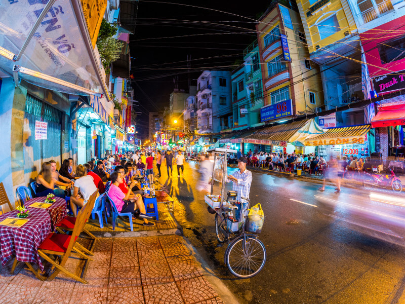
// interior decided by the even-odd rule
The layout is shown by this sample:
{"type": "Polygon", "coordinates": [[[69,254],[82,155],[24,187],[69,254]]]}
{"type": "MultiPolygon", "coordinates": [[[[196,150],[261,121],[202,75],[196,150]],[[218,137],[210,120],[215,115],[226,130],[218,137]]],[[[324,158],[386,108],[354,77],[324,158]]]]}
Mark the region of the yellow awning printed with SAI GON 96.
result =
{"type": "Polygon", "coordinates": [[[306,146],[364,143],[365,135],[371,129],[371,125],[353,127],[332,128],[323,134],[305,139],[306,146]]]}

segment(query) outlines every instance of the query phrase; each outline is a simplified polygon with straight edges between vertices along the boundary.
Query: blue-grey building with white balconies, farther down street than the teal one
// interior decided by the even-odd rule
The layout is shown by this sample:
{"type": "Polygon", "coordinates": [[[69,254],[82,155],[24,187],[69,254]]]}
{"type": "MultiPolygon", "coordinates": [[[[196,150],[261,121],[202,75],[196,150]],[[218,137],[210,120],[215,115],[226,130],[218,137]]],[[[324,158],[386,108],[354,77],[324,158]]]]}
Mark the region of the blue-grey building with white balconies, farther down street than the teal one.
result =
{"type": "Polygon", "coordinates": [[[219,133],[232,126],[231,73],[204,71],[197,80],[197,131],[219,133]]]}

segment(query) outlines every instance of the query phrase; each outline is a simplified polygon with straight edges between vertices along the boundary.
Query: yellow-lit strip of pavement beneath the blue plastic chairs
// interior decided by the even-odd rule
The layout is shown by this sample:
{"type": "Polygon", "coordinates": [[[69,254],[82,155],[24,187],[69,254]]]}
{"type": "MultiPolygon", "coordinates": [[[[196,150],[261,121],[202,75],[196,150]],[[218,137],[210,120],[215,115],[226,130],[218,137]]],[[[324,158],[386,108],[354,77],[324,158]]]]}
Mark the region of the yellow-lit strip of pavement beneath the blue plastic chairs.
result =
{"type": "MultiPolygon", "coordinates": [[[[152,230],[169,230],[169,229],[176,229],[177,225],[176,222],[173,218],[173,216],[169,213],[168,207],[166,204],[157,204],[157,212],[159,214],[159,220],[151,220],[152,222],[155,223],[154,226],[147,227],[143,226],[143,220],[142,219],[135,219],[133,218],[133,226],[134,226],[134,231],[152,231],[152,230]]],[[[88,229],[91,232],[97,233],[97,232],[114,232],[112,230],[112,217],[107,218],[108,223],[105,223],[104,220],[104,227],[100,228],[100,223],[98,220],[98,216],[95,216],[95,219],[92,219],[90,217],[89,223],[86,224],[86,229],[88,229]]],[[[125,232],[125,231],[131,231],[130,228],[130,223],[129,223],[129,218],[128,216],[120,217],[118,216],[115,222],[115,232],[125,232]]]]}

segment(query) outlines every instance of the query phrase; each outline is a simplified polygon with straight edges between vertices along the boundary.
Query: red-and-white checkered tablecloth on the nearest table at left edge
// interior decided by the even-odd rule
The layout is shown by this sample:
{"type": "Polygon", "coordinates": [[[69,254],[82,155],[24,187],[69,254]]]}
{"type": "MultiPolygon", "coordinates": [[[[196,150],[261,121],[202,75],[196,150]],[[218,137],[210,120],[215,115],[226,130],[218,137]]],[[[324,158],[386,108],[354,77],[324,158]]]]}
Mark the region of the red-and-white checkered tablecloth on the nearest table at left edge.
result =
{"type": "MultiPolygon", "coordinates": [[[[17,210],[13,210],[0,215],[0,222],[7,217],[17,217],[17,213],[17,210]]],[[[0,261],[4,266],[14,254],[17,260],[36,263],[43,271],[38,247],[51,232],[51,217],[46,210],[31,208],[27,219],[21,227],[0,225],[0,261]]]]}

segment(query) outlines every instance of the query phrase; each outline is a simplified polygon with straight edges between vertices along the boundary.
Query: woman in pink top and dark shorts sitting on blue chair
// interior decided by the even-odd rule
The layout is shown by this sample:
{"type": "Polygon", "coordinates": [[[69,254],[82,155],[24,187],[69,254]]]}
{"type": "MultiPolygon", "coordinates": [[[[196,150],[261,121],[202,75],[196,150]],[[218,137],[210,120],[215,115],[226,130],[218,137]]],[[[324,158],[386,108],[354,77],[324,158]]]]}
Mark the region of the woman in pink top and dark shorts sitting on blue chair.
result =
{"type": "MultiPolygon", "coordinates": [[[[121,191],[119,185],[124,183],[124,179],[121,176],[121,173],[114,172],[111,174],[111,186],[108,189],[108,196],[111,198],[115,207],[117,208],[118,212],[120,213],[127,213],[131,212],[135,214],[135,207],[141,211],[139,217],[143,218],[143,225],[144,226],[154,226],[154,223],[148,221],[148,218],[152,218],[151,216],[146,215],[145,205],[142,200],[142,196],[137,194],[135,197],[131,198],[130,192],[124,194],[121,191]]],[[[130,186],[134,186],[135,182],[133,181],[130,186]]]]}

